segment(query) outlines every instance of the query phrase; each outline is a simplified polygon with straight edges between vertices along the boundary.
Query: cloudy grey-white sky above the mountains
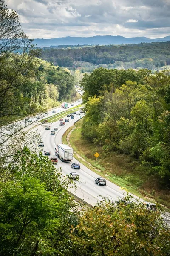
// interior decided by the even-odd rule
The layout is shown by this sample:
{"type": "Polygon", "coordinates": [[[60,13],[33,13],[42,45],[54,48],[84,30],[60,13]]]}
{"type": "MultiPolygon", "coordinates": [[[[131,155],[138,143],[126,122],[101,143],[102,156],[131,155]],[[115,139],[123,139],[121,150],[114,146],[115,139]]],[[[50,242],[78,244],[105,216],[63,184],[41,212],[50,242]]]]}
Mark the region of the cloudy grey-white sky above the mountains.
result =
{"type": "Polygon", "coordinates": [[[170,0],[5,0],[30,38],[170,35],[170,0]]]}

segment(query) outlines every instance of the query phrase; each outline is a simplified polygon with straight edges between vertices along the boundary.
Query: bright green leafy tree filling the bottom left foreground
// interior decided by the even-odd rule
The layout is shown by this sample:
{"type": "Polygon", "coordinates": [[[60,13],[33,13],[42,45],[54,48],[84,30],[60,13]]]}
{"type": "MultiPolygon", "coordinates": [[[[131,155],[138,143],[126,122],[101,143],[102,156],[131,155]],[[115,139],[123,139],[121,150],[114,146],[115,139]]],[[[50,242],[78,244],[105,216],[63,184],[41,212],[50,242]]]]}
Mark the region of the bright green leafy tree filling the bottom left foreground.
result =
{"type": "Polygon", "coordinates": [[[60,255],[76,222],[74,182],[27,148],[17,162],[0,172],[0,255],[60,255]]]}

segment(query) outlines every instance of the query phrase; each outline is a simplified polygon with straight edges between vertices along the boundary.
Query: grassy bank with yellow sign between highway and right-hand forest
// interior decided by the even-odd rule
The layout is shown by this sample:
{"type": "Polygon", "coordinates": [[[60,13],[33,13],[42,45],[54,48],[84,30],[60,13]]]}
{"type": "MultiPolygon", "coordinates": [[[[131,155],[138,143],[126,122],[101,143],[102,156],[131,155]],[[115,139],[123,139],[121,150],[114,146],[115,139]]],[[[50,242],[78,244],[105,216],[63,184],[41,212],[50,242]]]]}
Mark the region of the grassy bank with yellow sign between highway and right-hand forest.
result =
{"type": "MultiPolygon", "coordinates": [[[[159,189],[156,184],[155,177],[147,177],[144,171],[141,173],[140,163],[136,160],[131,162],[129,158],[122,154],[110,153],[106,154],[102,148],[89,143],[81,137],[82,120],[75,124],[75,129],[70,134],[71,147],[87,162],[84,162],[81,157],[74,155],[80,163],[89,167],[100,176],[106,177],[111,182],[121,187],[126,187],[127,190],[141,198],[150,198],[156,200],[160,204],[170,208],[170,193],[159,189]],[[98,152],[99,157],[95,163],[94,154],[98,152]],[[140,171],[139,171],[140,170],[140,171]],[[154,186],[155,185],[155,186],[154,186]]],[[[73,127],[68,128],[62,137],[63,143],[67,144],[66,137],[73,127]]]]}

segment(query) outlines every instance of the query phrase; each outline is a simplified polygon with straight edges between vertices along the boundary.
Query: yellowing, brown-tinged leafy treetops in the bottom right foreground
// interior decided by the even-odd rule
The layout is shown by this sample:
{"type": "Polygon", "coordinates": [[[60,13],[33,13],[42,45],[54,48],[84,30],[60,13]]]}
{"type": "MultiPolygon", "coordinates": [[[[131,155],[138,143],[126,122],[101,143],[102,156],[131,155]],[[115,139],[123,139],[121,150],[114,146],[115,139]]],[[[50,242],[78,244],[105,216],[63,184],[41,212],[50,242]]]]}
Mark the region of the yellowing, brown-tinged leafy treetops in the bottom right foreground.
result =
{"type": "MultiPolygon", "coordinates": [[[[129,196],[125,201],[133,200],[129,196]]],[[[71,233],[67,255],[167,256],[170,233],[159,211],[149,211],[142,202],[115,205],[104,199],[88,209],[71,233]]]]}

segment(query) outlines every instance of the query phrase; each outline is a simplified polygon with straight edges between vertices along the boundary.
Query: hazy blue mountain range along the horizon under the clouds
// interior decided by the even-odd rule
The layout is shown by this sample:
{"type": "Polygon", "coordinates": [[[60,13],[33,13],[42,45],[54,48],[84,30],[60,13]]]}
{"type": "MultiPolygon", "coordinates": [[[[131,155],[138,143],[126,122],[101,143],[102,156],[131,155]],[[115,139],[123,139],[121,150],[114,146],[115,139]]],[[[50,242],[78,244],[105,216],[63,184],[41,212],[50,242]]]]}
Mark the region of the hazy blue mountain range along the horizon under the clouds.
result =
{"type": "Polygon", "coordinates": [[[34,39],[34,44],[37,47],[50,47],[57,45],[107,45],[107,44],[139,44],[139,43],[152,43],[152,42],[167,42],[170,41],[170,35],[164,38],[150,39],[147,37],[134,37],[125,38],[117,35],[96,35],[92,37],[63,37],[63,38],[51,38],[51,39],[34,39]]]}

